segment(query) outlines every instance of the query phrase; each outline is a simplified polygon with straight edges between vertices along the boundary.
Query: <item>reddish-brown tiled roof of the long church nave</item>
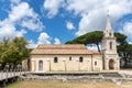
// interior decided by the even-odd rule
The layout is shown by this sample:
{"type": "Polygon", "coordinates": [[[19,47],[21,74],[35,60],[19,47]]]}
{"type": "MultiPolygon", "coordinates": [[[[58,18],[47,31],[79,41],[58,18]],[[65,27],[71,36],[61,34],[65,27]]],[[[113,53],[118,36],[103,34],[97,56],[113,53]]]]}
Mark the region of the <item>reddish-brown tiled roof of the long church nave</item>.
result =
{"type": "MultiPolygon", "coordinates": [[[[32,55],[77,55],[94,53],[92,51],[88,51],[84,44],[40,44],[31,52],[32,55]]],[[[97,54],[97,52],[95,54],[97,54]]]]}

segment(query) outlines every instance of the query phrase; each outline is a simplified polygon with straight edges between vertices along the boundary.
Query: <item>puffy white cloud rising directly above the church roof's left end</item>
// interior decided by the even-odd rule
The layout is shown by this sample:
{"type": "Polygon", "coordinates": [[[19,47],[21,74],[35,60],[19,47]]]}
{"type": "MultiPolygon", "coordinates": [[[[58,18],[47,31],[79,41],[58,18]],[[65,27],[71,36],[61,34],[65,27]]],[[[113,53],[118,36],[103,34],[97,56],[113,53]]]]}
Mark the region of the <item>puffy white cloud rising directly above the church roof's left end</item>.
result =
{"type": "Polygon", "coordinates": [[[42,32],[38,36],[37,44],[51,44],[51,36],[47,33],[42,32]]]}

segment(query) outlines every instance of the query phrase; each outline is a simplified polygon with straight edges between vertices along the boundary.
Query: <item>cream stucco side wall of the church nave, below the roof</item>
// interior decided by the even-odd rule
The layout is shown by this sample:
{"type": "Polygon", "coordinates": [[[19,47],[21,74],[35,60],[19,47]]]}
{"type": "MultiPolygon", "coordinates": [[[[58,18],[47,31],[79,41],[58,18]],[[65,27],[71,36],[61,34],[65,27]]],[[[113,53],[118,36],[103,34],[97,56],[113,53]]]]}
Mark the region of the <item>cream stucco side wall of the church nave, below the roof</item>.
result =
{"type": "Polygon", "coordinates": [[[38,70],[38,61],[43,61],[42,72],[90,72],[102,70],[102,55],[32,55],[31,72],[38,70]],[[79,57],[82,57],[82,63],[79,57]],[[54,63],[54,57],[58,58],[54,63]],[[72,61],[69,61],[72,57],[72,61]],[[97,62],[97,65],[95,65],[97,62]]]}

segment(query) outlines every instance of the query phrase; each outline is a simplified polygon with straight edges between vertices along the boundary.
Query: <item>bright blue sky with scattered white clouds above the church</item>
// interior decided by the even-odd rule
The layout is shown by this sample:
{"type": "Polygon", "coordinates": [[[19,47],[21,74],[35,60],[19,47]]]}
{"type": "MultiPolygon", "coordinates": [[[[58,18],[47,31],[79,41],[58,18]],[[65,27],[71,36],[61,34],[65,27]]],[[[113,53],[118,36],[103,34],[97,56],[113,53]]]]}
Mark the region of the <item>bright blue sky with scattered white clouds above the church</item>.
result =
{"type": "Polygon", "coordinates": [[[103,31],[108,10],[113,30],[132,43],[132,0],[0,0],[0,40],[24,36],[29,47],[64,44],[103,31]]]}

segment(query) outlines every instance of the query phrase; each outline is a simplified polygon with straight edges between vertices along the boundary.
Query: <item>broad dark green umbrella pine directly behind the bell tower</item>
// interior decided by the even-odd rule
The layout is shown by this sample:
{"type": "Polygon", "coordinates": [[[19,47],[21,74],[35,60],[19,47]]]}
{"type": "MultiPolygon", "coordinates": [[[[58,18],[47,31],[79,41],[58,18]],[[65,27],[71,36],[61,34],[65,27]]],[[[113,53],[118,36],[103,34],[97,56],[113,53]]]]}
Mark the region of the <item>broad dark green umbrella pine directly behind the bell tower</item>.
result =
{"type": "MultiPolygon", "coordinates": [[[[114,33],[114,35],[116,35],[117,42],[119,44],[125,42],[125,38],[127,38],[125,35],[123,35],[121,33],[114,33]]],[[[85,44],[85,45],[96,44],[97,48],[98,48],[98,52],[101,52],[100,47],[99,47],[99,44],[101,43],[102,37],[103,37],[103,32],[102,31],[95,31],[95,32],[89,32],[89,33],[86,33],[81,36],[78,36],[73,41],[68,41],[68,42],[66,42],[66,44],[85,44]]]]}

